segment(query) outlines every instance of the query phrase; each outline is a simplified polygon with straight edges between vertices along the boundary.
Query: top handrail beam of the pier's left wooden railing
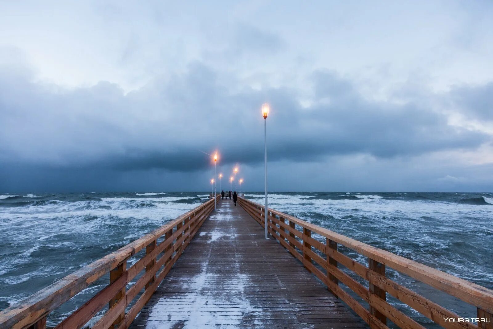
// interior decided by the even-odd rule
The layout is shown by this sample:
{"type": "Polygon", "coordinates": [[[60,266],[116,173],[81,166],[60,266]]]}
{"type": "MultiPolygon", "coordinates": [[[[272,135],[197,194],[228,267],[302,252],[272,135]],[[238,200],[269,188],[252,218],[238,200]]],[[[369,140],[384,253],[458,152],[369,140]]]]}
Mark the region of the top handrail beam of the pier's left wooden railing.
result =
{"type": "Polygon", "coordinates": [[[197,212],[198,209],[207,207],[209,203],[214,203],[214,200],[211,199],[202,203],[196,208],[178,216],[176,219],[156,228],[117,251],[95,260],[54,282],[50,286],[35,292],[19,303],[0,311],[0,328],[10,328],[21,320],[26,321],[27,324],[35,323],[38,319],[51,313],[77,293],[109,273],[118,266],[118,264],[124,262],[129,257],[134,256],[152,241],[163,236],[167,231],[176,226],[177,223],[197,212]]]}

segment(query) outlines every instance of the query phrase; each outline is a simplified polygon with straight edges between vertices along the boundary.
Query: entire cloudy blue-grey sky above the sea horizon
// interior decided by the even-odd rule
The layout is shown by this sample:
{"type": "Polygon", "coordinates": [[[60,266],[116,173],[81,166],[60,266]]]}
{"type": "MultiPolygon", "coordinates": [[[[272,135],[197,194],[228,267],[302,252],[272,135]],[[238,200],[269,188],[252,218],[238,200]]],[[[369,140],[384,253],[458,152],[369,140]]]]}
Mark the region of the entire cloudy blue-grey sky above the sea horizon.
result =
{"type": "Polygon", "coordinates": [[[493,2],[179,2],[0,0],[0,192],[493,191],[493,2]]]}

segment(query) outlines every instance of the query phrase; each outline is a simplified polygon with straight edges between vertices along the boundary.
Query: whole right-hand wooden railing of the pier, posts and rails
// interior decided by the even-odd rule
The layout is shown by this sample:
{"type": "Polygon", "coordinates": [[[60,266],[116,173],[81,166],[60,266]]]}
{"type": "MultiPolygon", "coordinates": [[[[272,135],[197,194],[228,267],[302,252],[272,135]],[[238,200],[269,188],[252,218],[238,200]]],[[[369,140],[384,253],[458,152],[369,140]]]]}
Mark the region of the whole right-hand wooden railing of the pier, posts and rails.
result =
{"type": "MultiPolygon", "coordinates": [[[[240,197],[238,203],[265,227],[264,206],[240,197]]],[[[387,319],[400,328],[424,328],[388,303],[386,296],[389,294],[444,328],[493,329],[492,290],[270,208],[268,232],[334,295],[348,304],[370,328],[388,328],[387,319]],[[312,233],[317,237],[312,236],[312,233]],[[320,242],[320,239],[324,239],[325,243],[320,242]],[[368,257],[368,266],[338,251],[338,244],[368,257]],[[364,279],[368,288],[348,275],[347,270],[342,271],[340,266],[364,279]],[[477,308],[477,318],[483,319],[483,322],[465,322],[454,312],[389,279],[386,266],[473,305],[477,308]],[[368,307],[363,306],[339,284],[344,284],[368,307]]]]}

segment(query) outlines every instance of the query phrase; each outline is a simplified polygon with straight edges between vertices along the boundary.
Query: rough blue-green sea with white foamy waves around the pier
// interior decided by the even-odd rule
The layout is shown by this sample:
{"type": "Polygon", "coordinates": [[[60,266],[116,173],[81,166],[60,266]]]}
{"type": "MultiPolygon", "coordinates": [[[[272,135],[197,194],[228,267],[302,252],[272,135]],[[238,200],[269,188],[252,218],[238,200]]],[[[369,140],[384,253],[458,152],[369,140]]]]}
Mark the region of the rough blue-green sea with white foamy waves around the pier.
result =
{"type": "MultiPolygon", "coordinates": [[[[263,203],[263,192],[246,192],[263,203]]],[[[207,201],[209,192],[0,193],[0,310],[207,201]]],[[[493,289],[493,193],[269,192],[269,207],[493,289]]],[[[342,248],[357,261],[367,258],[342,248]]],[[[463,317],[473,307],[388,269],[463,317]]],[[[106,283],[53,312],[60,322],[106,283]]],[[[427,328],[426,318],[398,309],[427,328]]]]}

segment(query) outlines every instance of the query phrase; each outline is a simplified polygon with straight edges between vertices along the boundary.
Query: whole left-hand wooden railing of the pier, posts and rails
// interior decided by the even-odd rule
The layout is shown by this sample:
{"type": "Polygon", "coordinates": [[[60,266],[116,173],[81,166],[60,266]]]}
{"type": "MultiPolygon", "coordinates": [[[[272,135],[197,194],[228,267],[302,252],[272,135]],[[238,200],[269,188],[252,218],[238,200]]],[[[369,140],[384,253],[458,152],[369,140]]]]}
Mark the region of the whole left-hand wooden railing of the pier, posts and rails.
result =
{"type": "MultiPolygon", "coordinates": [[[[217,202],[219,200],[220,197],[217,196],[217,202]]],[[[213,209],[214,200],[211,199],[3,310],[0,312],[0,329],[46,328],[46,318],[52,311],[107,273],[109,284],[55,328],[81,328],[105,305],[109,305],[108,310],[92,328],[128,328],[213,209]],[[158,240],[162,241],[158,243],[158,240]],[[127,268],[127,260],[140,251],[143,252],[144,248],[145,255],[127,268]],[[141,277],[129,285],[142,271],[141,277]],[[133,302],[136,297],[138,299],[133,302]],[[130,309],[126,312],[127,307],[130,309]]]]}

